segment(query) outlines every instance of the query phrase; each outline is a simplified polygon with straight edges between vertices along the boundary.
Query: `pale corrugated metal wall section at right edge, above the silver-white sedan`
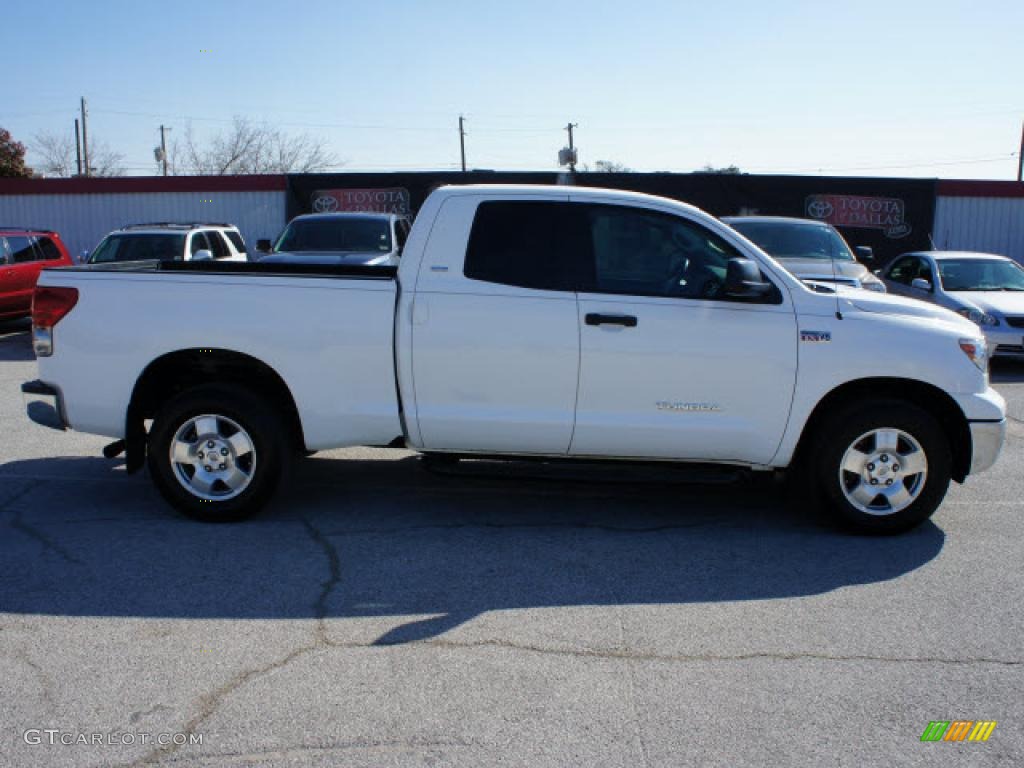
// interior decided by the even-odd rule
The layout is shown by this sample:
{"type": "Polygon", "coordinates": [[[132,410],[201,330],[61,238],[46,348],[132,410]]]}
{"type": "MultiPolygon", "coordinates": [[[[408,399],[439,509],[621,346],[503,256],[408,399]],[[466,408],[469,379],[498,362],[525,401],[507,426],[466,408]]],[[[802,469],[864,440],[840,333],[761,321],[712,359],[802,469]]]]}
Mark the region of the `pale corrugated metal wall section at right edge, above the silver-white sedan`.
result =
{"type": "Polygon", "coordinates": [[[1024,198],[939,196],[935,247],[998,253],[1024,263],[1024,198]]]}

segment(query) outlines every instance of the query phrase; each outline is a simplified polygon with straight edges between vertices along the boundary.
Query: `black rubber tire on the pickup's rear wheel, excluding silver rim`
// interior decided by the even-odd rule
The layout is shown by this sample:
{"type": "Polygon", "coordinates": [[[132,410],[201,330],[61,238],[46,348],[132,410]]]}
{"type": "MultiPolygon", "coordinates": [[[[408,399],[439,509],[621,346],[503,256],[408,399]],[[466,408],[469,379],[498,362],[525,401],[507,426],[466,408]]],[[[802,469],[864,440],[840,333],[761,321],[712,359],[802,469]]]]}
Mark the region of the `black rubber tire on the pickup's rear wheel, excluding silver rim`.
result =
{"type": "Polygon", "coordinates": [[[259,395],[233,386],[204,385],[182,392],[160,410],[150,430],[146,453],[150,474],[172,507],[203,522],[234,522],[254,515],[273,495],[290,456],[289,444],[281,419],[259,395]],[[251,454],[237,458],[231,454],[241,469],[248,464],[250,470],[243,489],[232,492],[226,483],[216,481],[210,493],[214,498],[204,499],[180,479],[187,467],[172,462],[172,444],[179,429],[203,415],[218,417],[225,432],[233,433],[232,426],[241,427],[250,438],[251,454]],[[237,495],[229,496],[231,493],[237,495]],[[216,498],[218,495],[224,498],[216,498]]]}

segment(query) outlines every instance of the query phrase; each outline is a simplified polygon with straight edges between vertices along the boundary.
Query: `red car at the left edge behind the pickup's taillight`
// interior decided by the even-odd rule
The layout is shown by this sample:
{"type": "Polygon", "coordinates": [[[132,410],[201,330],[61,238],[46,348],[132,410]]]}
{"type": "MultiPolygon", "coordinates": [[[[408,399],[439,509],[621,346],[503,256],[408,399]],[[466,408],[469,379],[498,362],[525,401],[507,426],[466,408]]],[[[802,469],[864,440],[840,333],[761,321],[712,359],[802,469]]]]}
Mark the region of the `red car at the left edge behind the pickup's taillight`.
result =
{"type": "Polygon", "coordinates": [[[56,232],[0,227],[0,318],[31,314],[39,271],[72,263],[56,232]]]}

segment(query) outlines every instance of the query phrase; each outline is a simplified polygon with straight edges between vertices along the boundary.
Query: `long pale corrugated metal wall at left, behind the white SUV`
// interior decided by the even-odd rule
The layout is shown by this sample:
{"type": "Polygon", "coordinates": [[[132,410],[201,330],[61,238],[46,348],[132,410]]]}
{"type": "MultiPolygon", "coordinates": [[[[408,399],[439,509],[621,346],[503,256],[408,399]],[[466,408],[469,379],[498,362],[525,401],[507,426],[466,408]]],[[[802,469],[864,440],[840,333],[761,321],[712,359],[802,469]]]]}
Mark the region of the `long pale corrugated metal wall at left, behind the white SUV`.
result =
{"type": "Polygon", "coordinates": [[[152,221],[234,224],[254,250],[285,226],[285,193],[0,195],[0,225],[54,229],[76,257],[112,229],[152,221]]]}

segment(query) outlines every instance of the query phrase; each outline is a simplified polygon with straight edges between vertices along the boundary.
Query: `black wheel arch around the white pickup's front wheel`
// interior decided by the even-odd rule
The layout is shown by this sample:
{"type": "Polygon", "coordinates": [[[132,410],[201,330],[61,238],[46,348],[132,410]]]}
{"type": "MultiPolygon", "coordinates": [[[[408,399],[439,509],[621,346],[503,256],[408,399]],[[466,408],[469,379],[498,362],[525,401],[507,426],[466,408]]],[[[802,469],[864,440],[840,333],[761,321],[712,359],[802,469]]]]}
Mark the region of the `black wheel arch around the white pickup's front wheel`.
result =
{"type": "Polygon", "coordinates": [[[796,460],[806,458],[813,436],[826,418],[845,406],[867,398],[887,398],[912,402],[924,408],[939,422],[949,441],[952,478],[964,482],[971,470],[971,428],[967,417],[947,392],[934,384],[916,379],[873,377],[848,381],[822,397],[804,424],[797,443],[796,460]]]}

